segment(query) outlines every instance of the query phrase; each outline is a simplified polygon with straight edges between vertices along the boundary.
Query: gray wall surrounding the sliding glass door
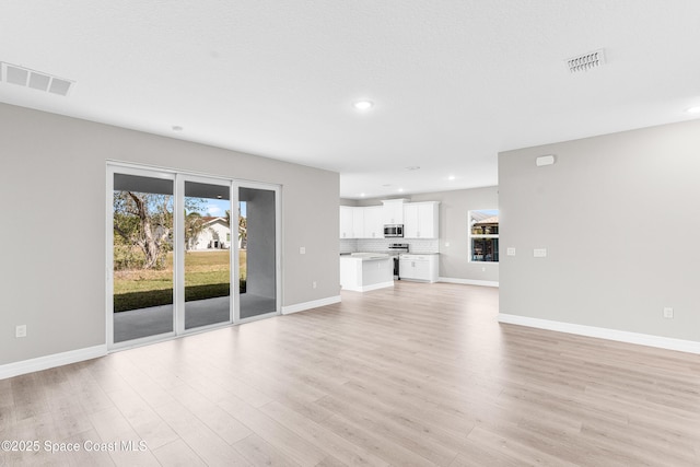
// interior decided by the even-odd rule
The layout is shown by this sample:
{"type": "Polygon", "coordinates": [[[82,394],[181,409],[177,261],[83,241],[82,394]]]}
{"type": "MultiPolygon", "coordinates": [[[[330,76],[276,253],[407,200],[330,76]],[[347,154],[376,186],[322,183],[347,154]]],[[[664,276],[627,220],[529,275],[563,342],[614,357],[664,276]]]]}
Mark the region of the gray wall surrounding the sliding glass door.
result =
{"type": "Polygon", "coordinates": [[[282,185],[282,305],[339,294],[337,173],[5,104],[0,121],[0,364],[105,343],[107,160],[282,185]]]}

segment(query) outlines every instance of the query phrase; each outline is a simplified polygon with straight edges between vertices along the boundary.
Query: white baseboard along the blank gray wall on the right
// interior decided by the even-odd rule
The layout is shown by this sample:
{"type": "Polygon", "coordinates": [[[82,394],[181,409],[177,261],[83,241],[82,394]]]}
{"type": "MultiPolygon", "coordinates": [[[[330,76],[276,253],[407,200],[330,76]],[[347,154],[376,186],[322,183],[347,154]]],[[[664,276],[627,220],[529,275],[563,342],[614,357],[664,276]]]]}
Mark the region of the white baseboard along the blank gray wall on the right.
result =
{"type": "Polygon", "coordinates": [[[700,342],[693,340],[673,339],[669,337],[652,336],[649,334],[629,332],[625,330],[576,325],[571,323],[552,322],[549,319],[530,318],[528,316],[499,314],[499,323],[527,326],[538,329],[575,334],[578,336],[596,337],[618,342],[637,343],[639,346],[656,347],[679,352],[700,353],[700,342]]]}

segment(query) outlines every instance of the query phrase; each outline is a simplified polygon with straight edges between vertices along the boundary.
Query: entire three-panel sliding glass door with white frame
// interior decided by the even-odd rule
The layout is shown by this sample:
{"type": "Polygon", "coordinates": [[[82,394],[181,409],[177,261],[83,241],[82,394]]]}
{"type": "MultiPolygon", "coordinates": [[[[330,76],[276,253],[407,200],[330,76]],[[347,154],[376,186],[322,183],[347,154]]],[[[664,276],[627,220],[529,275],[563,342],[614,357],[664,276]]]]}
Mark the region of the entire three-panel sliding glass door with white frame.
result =
{"type": "Polygon", "coordinates": [[[279,314],[279,187],[108,166],[110,348],[279,314]]]}

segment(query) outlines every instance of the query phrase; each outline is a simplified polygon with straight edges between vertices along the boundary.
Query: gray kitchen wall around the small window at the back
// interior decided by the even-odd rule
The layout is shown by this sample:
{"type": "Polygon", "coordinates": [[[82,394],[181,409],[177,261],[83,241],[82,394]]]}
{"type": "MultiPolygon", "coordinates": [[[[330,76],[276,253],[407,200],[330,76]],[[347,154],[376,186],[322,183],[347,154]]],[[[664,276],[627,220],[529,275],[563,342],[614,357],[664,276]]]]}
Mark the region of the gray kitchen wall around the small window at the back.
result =
{"type": "MultiPolygon", "coordinates": [[[[499,264],[469,262],[467,213],[499,207],[498,187],[407,195],[410,202],[440,201],[440,277],[499,282],[499,264]],[[446,244],[450,244],[447,246],[446,244]]],[[[388,199],[388,198],[382,198],[388,199]]],[[[381,205],[380,199],[359,200],[357,206],[381,205]]],[[[341,205],[349,206],[341,199],[341,205]]]]}

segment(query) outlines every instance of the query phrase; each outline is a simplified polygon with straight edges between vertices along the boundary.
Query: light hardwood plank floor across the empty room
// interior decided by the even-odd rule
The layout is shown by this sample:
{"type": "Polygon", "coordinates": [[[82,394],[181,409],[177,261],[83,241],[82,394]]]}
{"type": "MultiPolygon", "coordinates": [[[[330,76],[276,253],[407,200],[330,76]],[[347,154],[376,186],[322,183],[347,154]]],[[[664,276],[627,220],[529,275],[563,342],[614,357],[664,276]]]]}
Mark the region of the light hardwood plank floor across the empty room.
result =
{"type": "Polygon", "coordinates": [[[401,281],[3,380],[0,440],[42,450],[0,465],[700,465],[700,357],[497,314],[497,289],[401,281]],[[85,450],[115,441],[145,450],[85,450]]]}

